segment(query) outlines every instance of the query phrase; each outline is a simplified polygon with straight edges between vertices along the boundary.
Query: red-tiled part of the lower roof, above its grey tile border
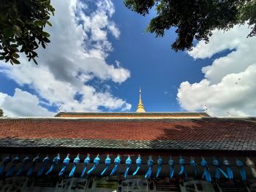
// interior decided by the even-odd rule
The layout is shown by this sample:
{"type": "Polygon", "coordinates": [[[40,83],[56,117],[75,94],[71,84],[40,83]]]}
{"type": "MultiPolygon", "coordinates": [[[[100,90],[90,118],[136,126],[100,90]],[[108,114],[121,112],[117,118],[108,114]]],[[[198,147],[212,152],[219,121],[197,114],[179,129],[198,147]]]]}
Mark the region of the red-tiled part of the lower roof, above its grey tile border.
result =
{"type": "Polygon", "coordinates": [[[243,145],[246,148],[238,147],[256,150],[256,119],[3,118],[0,119],[0,140],[4,139],[215,142],[214,145],[233,142],[225,145],[243,145]]]}

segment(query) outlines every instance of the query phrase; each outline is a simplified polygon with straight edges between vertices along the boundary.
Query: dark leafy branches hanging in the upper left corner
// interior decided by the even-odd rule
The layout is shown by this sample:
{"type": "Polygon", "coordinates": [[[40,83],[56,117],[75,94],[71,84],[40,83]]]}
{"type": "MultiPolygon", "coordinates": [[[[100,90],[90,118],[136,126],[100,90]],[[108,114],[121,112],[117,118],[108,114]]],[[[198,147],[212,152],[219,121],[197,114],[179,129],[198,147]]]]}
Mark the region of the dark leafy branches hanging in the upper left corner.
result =
{"type": "Polygon", "coordinates": [[[19,53],[37,64],[35,50],[50,42],[50,35],[43,31],[53,15],[50,0],[1,0],[0,1],[0,60],[20,64],[19,53]]]}

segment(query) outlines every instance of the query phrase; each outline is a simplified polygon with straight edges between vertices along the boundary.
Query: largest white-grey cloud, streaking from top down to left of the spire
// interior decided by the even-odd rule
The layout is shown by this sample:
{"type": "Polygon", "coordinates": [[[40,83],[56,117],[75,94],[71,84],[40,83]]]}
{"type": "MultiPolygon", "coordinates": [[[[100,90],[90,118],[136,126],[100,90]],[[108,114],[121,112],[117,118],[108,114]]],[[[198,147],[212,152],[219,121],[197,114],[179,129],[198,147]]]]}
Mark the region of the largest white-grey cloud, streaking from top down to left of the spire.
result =
{"type": "Polygon", "coordinates": [[[29,85],[46,104],[61,105],[64,111],[97,111],[99,107],[129,110],[131,105],[123,99],[86,84],[94,77],[104,85],[108,80],[124,82],[130,76],[129,70],[105,61],[113,50],[108,35],[116,38],[120,35],[111,20],[115,11],[113,3],[103,0],[89,3],[95,3],[96,9],[89,10],[82,1],[52,1],[56,12],[51,18],[53,27],[47,29],[51,42],[45,50],[38,50],[39,65],[29,63],[22,56],[22,64],[2,64],[0,72],[20,86],[29,85]],[[77,94],[79,101],[75,99],[77,94]]]}

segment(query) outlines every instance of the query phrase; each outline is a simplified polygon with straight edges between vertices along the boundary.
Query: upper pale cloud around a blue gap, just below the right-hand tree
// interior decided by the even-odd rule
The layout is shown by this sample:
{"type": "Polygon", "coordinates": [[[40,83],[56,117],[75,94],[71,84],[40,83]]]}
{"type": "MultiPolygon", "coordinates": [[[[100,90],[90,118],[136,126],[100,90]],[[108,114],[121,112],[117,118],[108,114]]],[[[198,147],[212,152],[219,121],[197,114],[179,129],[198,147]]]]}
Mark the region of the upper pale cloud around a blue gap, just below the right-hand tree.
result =
{"type": "Polygon", "coordinates": [[[256,62],[255,37],[246,38],[250,28],[235,26],[230,31],[214,31],[210,42],[199,42],[189,55],[193,58],[211,58],[222,50],[233,50],[232,53],[217,58],[210,66],[203,67],[202,72],[211,83],[221,82],[230,73],[243,72],[248,66],[256,62]]]}

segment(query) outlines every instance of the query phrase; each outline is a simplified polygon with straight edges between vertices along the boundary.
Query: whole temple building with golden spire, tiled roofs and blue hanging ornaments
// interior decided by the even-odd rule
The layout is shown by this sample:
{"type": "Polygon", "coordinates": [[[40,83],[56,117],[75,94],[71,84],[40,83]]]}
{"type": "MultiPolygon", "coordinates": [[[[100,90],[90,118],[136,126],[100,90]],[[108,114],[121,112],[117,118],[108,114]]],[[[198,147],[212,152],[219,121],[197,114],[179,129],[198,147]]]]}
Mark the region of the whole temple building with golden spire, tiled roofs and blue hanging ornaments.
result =
{"type": "Polygon", "coordinates": [[[0,118],[0,191],[256,191],[256,118],[59,112],[0,118]]]}

